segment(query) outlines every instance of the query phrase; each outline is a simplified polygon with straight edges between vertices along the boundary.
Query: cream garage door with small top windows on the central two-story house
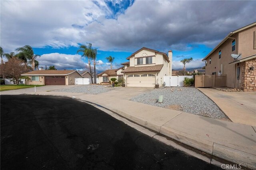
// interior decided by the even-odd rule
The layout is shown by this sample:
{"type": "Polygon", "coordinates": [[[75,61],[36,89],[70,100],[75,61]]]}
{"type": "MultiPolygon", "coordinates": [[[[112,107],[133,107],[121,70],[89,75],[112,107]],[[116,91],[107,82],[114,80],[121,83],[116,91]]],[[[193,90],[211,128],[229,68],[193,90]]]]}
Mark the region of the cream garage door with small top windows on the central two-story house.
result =
{"type": "Polygon", "coordinates": [[[155,87],[156,74],[127,74],[127,87],[155,87]]]}

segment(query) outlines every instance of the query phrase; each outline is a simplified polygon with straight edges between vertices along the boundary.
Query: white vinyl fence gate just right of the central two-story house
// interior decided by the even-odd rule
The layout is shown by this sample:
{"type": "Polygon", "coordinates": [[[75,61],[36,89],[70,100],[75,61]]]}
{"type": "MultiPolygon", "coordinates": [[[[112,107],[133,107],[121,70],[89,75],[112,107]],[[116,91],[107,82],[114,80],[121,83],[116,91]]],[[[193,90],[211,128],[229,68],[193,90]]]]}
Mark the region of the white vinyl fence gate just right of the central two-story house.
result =
{"type": "Polygon", "coordinates": [[[165,86],[179,86],[183,87],[184,78],[193,78],[193,76],[164,76],[165,86]]]}

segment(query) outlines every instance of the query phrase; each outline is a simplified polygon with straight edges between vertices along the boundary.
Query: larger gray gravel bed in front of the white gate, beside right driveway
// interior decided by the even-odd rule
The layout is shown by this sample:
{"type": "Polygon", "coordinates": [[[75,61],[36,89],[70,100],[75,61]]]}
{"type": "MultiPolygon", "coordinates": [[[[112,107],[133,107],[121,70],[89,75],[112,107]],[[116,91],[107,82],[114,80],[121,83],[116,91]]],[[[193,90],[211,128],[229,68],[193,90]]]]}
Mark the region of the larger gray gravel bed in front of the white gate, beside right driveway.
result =
{"type": "Polygon", "coordinates": [[[192,87],[155,88],[131,100],[153,106],[184,111],[195,115],[229,120],[212,100],[192,87]],[[156,102],[160,95],[164,96],[162,103],[156,102]]]}

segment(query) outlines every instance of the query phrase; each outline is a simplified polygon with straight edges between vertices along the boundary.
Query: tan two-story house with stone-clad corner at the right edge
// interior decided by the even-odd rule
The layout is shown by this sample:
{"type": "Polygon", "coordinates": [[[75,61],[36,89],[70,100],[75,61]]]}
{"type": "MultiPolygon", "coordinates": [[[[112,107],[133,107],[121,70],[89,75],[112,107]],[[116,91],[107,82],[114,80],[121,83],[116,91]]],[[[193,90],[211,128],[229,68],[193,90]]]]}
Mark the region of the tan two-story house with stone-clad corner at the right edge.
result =
{"type": "Polygon", "coordinates": [[[256,22],[229,33],[202,61],[205,74],[226,74],[226,86],[256,92],[256,22]]]}

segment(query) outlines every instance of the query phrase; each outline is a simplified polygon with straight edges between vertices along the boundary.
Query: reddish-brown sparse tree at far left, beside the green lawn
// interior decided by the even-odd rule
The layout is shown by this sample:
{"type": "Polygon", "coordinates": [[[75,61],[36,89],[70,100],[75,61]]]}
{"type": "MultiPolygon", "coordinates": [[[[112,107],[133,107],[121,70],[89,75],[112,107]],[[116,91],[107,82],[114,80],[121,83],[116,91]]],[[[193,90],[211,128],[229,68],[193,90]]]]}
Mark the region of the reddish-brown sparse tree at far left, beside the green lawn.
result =
{"type": "Polygon", "coordinates": [[[16,57],[1,64],[0,69],[1,75],[4,75],[6,78],[12,78],[14,84],[20,84],[20,80],[22,79],[21,74],[30,71],[26,68],[24,62],[16,57]]]}

